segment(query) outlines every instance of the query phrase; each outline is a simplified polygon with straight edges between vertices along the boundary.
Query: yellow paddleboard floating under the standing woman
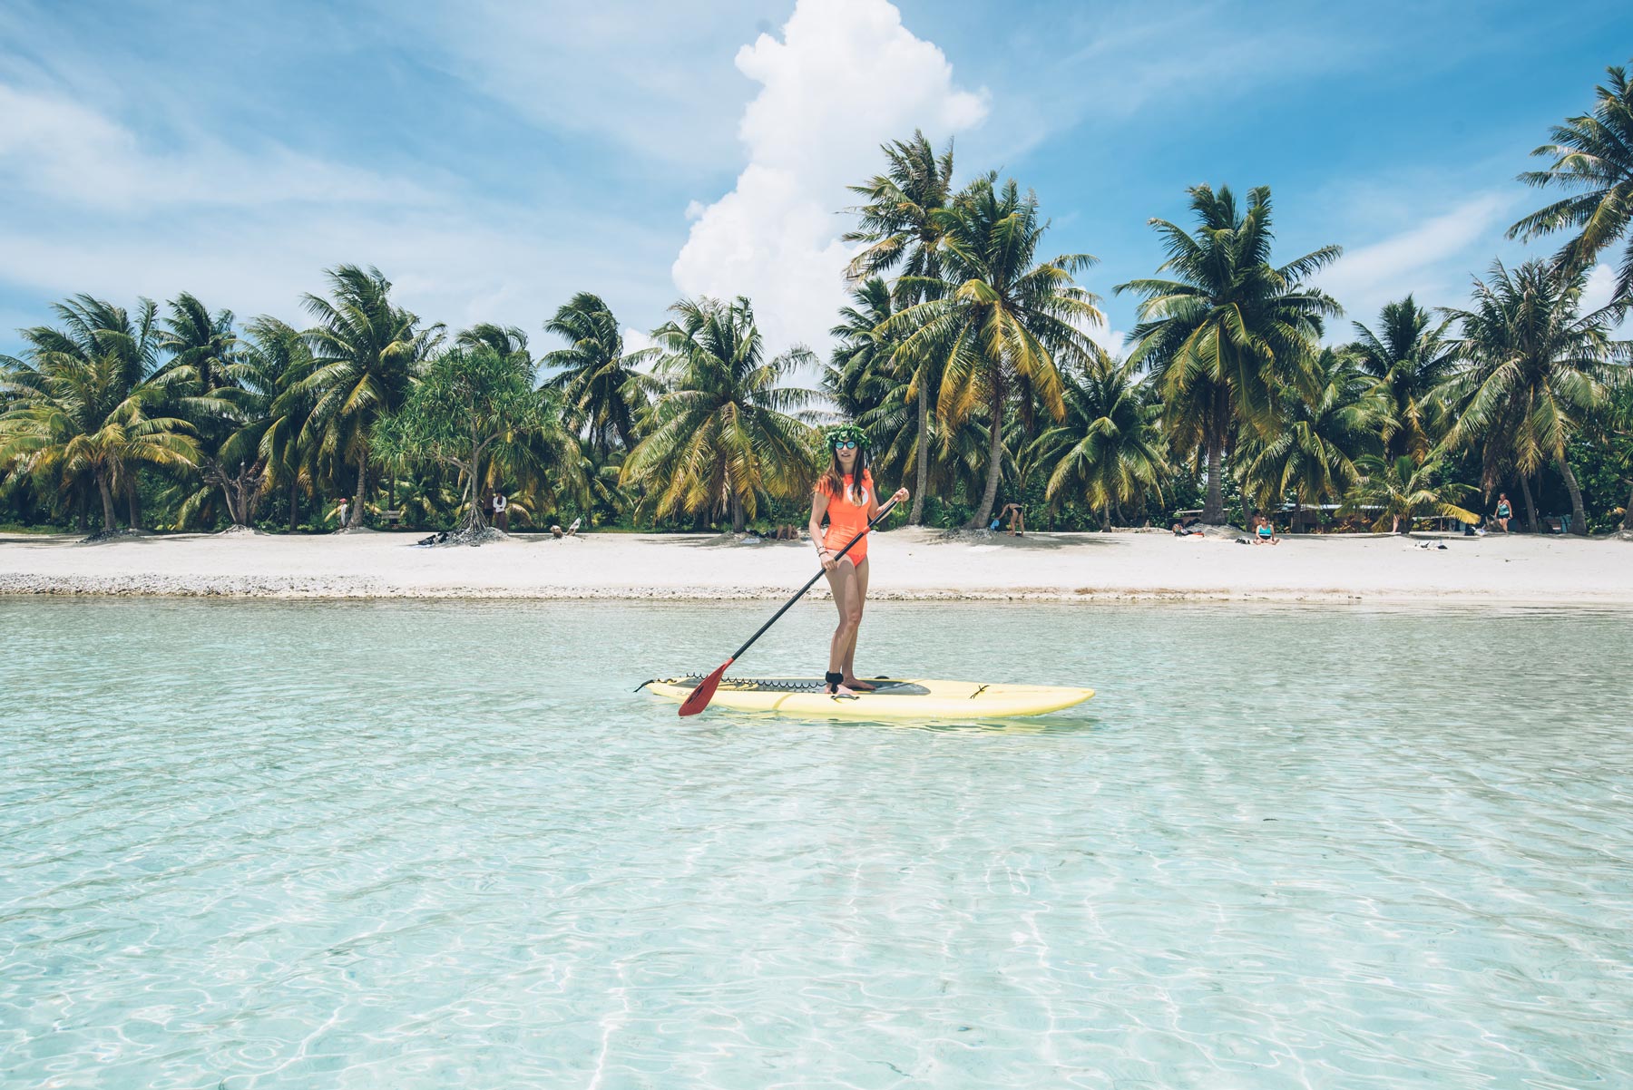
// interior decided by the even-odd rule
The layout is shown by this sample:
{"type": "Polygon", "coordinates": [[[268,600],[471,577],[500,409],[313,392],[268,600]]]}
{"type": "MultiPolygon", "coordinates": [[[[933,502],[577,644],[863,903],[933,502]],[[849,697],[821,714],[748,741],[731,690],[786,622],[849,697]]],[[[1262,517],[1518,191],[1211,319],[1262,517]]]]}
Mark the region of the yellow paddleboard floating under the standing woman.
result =
{"type": "MultiPolygon", "coordinates": [[[[701,677],[663,677],[645,687],[686,700],[701,677]]],[[[981,685],[980,682],[870,679],[877,689],[854,700],[830,697],[820,677],[725,677],[710,708],[777,711],[812,720],[993,720],[1045,715],[1083,703],[1092,689],[981,685]]]]}

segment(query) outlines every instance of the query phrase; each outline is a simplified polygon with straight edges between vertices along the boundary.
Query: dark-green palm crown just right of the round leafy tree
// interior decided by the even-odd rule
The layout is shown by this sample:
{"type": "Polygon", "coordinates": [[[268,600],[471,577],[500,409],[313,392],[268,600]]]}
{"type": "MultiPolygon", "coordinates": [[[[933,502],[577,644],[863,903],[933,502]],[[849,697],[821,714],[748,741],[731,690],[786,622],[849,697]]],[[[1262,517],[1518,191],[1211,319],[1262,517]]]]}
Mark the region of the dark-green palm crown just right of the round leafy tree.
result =
{"type": "Polygon", "coordinates": [[[578,292],[544,323],[545,333],[568,341],[568,348],[547,352],[544,364],[560,367],[545,383],[567,400],[575,429],[590,429],[590,445],[606,460],[616,432],[625,450],[640,442],[635,421],[647,406],[652,377],[642,370],[656,348],[624,349],[617,320],[599,295],[578,292]]]}

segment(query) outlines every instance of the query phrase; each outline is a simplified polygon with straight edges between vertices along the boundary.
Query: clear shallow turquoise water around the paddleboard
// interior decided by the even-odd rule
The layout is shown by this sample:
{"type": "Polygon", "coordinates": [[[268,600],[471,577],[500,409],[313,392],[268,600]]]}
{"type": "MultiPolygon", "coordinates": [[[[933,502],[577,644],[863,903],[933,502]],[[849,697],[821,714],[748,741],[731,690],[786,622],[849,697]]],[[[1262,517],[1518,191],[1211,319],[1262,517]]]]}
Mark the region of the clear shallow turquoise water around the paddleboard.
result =
{"type": "Polygon", "coordinates": [[[1633,1085],[1633,615],[769,609],[0,599],[0,1085],[1633,1085]]]}

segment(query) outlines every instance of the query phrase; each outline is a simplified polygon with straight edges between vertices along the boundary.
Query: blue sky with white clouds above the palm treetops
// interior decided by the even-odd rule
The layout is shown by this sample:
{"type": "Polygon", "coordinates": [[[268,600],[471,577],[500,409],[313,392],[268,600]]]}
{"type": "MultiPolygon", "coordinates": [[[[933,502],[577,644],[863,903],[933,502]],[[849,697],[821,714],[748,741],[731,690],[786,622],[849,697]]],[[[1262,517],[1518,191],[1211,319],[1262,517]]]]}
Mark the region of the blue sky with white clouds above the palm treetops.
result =
{"type": "Polygon", "coordinates": [[[1342,245],[1321,282],[1370,321],[1551,253],[1502,238],[1542,199],[1514,176],[1630,57],[1633,8],[1595,0],[5,0],[0,352],[82,290],[300,321],[343,261],[537,349],[593,290],[634,331],[748,294],[774,346],[826,351],[843,186],[914,127],[1101,258],[1102,338],[1161,261],[1146,220],[1204,181],[1272,186],[1284,258],[1342,245]]]}

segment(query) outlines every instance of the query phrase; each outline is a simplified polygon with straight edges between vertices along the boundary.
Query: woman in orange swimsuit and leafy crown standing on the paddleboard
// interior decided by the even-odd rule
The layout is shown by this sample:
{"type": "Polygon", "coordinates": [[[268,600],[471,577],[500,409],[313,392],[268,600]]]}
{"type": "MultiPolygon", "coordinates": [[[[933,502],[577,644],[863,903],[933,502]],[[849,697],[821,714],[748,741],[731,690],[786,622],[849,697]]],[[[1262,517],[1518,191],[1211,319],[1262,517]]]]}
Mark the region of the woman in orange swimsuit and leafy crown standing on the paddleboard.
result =
{"type": "MultiPolygon", "coordinates": [[[[864,534],[867,524],[879,514],[879,494],[874,491],[874,475],[867,468],[867,434],[854,424],[828,429],[828,470],[816,480],[812,494],[810,534],[816,542],[816,556],[828,574],[833,604],[839,610],[839,627],[828,645],[828,692],[836,697],[856,697],[874,687],[856,676],[856,633],[862,625],[862,607],[867,604],[867,537],[839,556],[852,537],[864,534]],[[828,529],[823,530],[823,519],[828,529]]],[[[893,499],[905,503],[906,488],[898,488],[893,499]]]]}

